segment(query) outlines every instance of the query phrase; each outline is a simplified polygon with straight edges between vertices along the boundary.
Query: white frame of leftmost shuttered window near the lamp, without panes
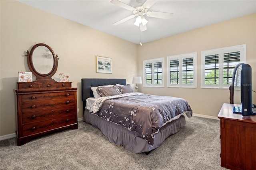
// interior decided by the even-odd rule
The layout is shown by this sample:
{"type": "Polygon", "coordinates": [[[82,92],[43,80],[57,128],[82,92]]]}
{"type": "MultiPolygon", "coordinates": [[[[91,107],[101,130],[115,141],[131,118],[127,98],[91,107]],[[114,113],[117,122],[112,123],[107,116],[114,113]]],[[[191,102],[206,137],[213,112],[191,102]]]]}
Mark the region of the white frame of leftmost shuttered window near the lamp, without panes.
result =
{"type": "Polygon", "coordinates": [[[148,59],[143,61],[143,87],[164,87],[164,57],[156,59],[148,59]],[[162,62],[162,84],[154,84],[154,63],[162,62]],[[146,84],[145,64],[152,63],[152,84],[146,84]]]}

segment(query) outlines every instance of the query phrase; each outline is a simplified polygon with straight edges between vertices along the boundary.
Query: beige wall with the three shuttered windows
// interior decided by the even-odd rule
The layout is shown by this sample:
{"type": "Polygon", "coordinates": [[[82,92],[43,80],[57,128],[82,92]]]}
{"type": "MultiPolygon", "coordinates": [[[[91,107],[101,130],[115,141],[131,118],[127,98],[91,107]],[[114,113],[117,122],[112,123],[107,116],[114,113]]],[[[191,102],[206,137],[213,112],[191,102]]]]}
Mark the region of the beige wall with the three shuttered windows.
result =
{"type": "MultiPolygon", "coordinates": [[[[252,66],[253,90],[256,91],[256,14],[228,20],[175,36],[170,36],[138,47],[139,75],[143,60],[197,52],[197,88],[142,87],[142,93],[182,97],[190,103],[194,113],[217,117],[223,103],[229,103],[228,89],[202,89],[201,51],[246,44],[246,63],[252,66]]],[[[256,104],[256,93],[253,103],[256,104]]]]}

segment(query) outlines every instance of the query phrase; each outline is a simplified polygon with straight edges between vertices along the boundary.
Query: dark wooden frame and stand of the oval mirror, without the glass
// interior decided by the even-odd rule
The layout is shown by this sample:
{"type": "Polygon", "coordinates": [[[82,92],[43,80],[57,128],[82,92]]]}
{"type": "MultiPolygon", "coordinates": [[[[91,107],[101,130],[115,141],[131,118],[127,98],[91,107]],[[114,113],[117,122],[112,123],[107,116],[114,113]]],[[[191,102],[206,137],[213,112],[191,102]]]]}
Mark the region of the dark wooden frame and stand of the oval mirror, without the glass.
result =
{"type": "Polygon", "coordinates": [[[48,45],[44,44],[44,43],[38,43],[36,45],[34,45],[30,51],[30,53],[27,51],[27,56],[28,56],[28,67],[30,69],[30,71],[32,72],[33,75],[36,76],[36,80],[35,81],[54,81],[56,82],[54,79],[52,79],[52,76],[56,73],[57,71],[57,67],[58,67],[58,55],[55,56],[53,50],[51,47],[49,47],[48,45]],[[53,56],[53,66],[52,66],[52,70],[49,73],[46,74],[42,74],[39,73],[35,67],[34,67],[34,63],[33,63],[33,52],[36,49],[36,47],[39,46],[45,46],[47,47],[50,52],[52,53],[53,56]]]}

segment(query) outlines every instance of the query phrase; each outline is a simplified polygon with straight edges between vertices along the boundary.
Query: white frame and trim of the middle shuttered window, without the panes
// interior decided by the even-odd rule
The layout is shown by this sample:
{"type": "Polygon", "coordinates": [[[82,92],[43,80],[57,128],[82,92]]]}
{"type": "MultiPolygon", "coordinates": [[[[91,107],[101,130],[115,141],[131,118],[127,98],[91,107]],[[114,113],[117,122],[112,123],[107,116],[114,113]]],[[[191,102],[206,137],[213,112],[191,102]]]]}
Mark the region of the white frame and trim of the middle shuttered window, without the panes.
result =
{"type": "MultiPolygon", "coordinates": [[[[186,53],[186,54],[181,54],[181,55],[173,55],[173,56],[168,56],[167,57],[167,87],[178,87],[178,88],[196,88],[197,85],[196,85],[196,70],[197,70],[197,67],[196,67],[196,64],[197,64],[197,52],[193,52],[193,53],[186,53]],[[193,80],[194,80],[194,83],[193,84],[182,84],[182,83],[179,83],[179,84],[170,84],[170,81],[169,81],[169,78],[170,78],[170,60],[175,60],[175,59],[179,59],[182,63],[182,59],[184,58],[193,58],[193,80]]],[[[179,78],[179,81],[182,82],[182,64],[180,64],[179,66],[179,74],[180,74],[180,78],[179,78]]]]}

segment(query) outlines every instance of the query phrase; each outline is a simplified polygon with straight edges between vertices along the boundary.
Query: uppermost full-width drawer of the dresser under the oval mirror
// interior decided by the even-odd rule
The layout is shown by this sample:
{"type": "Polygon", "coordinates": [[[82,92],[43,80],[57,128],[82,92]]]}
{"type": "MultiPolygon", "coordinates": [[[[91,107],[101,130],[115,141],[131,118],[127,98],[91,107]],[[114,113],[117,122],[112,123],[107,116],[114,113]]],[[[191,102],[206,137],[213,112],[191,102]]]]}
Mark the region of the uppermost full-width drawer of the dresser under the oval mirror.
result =
{"type": "Polygon", "coordinates": [[[30,101],[42,101],[42,100],[52,100],[52,99],[74,99],[75,92],[61,92],[61,93],[41,93],[41,94],[29,94],[22,95],[22,102],[30,102],[30,101]]]}

